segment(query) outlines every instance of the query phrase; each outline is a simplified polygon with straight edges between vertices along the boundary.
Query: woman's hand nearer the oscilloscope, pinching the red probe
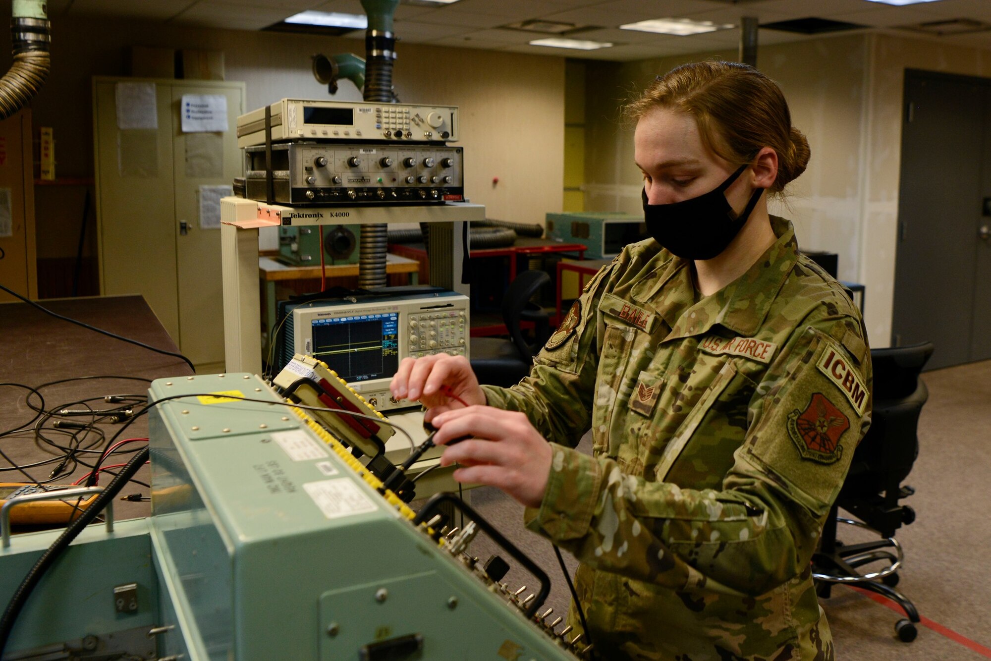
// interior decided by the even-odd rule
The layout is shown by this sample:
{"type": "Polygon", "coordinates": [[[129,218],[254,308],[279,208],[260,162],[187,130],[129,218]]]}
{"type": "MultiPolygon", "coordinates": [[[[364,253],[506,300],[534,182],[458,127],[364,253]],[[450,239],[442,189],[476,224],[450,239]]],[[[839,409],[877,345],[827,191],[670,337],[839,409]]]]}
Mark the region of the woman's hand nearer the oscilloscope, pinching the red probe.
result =
{"type": "Polygon", "coordinates": [[[479,380],[464,356],[404,358],[388,387],[396,399],[419,401],[426,406],[427,422],[439,413],[461,408],[454,395],[469,406],[486,403],[486,393],[479,387],[479,380]]]}

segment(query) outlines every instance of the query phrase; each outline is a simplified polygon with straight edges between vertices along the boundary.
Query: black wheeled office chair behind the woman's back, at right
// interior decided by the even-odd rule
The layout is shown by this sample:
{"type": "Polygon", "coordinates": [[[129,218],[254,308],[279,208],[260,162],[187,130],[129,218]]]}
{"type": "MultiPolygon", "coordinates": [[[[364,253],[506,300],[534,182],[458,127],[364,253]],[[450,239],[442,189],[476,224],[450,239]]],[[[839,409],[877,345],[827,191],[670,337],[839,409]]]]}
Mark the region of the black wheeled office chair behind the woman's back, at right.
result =
{"type": "Polygon", "coordinates": [[[871,426],[853,454],[846,481],[826,518],[820,550],[813,556],[813,578],[820,597],[828,598],[835,584],[857,586],[887,597],[908,616],[895,624],[898,637],[905,642],[916,638],[919,611],[895,590],[904,554],[894,535],[916,518],[915,510],[899,500],[915,493],[901,483],[919,455],[916,427],[929,398],[919,373],[932,355],[930,342],[871,351],[871,426]],[[859,520],[837,516],[839,507],[859,520]],[[873,530],[881,539],[845,545],[836,539],[837,522],[873,530]],[[870,571],[859,571],[868,565],[872,565],[870,571]]]}

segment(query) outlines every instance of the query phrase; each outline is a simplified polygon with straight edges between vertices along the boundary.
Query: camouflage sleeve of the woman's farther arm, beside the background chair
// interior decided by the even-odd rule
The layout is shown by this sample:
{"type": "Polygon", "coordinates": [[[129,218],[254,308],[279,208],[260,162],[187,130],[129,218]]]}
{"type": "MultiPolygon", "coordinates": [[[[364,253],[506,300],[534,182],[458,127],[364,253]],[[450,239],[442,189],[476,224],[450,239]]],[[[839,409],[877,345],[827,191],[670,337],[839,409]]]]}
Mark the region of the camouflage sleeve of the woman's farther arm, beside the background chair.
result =
{"type": "Polygon", "coordinates": [[[544,438],[568,447],[578,445],[592,418],[599,364],[597,309],[612,266],[603,267],[589,280],[561,325],[533,358],[526,378],[510,388],[482,386],[490,406],[525,413],[544,438]]]}

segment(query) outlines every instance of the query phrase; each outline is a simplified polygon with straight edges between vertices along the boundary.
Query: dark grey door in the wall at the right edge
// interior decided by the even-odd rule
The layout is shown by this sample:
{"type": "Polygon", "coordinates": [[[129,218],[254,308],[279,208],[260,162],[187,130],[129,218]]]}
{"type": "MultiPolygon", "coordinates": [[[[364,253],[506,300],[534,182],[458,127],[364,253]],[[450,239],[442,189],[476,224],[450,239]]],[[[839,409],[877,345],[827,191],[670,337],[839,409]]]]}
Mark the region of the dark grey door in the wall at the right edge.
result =
{"type": "Polygon", "coordinates": [[[991,358],[991,80],[906,71],[895,346],[930,369],[991,358]]]}

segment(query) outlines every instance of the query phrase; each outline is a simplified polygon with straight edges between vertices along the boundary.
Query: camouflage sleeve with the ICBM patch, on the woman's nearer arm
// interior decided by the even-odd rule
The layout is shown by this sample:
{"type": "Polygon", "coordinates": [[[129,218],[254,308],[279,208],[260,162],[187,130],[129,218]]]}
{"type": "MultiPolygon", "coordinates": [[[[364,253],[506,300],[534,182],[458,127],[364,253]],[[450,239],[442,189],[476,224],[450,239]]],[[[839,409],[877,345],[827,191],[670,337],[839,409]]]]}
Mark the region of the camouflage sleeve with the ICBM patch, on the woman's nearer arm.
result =
{"type": "Polygon", "coordinates": [[[720,490],[647,482],[554,446],[527,526],[593,568],[675,590],[757,596],[806,571],[869,425],[869,353],[841,341],[851,323],[793,334],[756,388],[720,490]]]}

